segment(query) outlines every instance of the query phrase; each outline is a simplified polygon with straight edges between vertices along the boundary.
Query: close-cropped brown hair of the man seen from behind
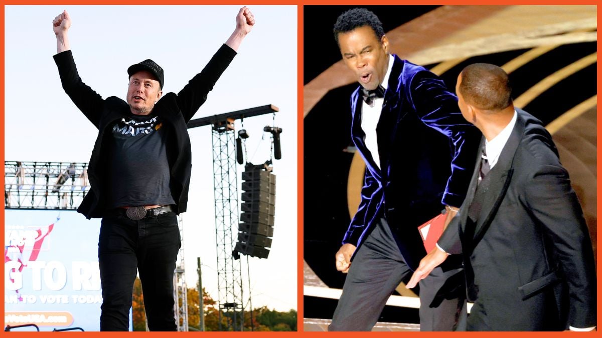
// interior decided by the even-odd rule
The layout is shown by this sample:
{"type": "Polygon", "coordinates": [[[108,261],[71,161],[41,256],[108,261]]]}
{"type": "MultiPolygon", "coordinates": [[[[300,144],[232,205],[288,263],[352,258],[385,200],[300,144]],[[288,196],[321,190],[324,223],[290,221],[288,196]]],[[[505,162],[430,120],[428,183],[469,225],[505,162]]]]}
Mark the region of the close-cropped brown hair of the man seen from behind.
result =
{"type": "Polygon", "coordinates": [[[500,110],[512,103],[507,73],[498,66],[474,63],[465,67],[458,90],[464,100],[479,109],[500,110]]]}

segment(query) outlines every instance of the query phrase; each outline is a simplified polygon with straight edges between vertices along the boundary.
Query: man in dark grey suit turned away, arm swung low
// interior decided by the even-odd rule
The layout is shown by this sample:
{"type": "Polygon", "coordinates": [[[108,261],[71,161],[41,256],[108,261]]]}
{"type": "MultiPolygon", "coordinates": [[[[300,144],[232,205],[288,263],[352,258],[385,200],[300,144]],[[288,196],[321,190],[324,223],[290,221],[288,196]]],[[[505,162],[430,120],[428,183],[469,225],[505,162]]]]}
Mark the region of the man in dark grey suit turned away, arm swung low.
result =
{"type": "Polygon", "coordinates": [[[514,108],[510,92],[506,72],[492,64],[458,76],[462,115],[483,133],[480,165],[408,287],[447,254],[462,253],[474,301],[468,330],[592,330],[594,254],[579,201],[550,134],[514,108]]]}

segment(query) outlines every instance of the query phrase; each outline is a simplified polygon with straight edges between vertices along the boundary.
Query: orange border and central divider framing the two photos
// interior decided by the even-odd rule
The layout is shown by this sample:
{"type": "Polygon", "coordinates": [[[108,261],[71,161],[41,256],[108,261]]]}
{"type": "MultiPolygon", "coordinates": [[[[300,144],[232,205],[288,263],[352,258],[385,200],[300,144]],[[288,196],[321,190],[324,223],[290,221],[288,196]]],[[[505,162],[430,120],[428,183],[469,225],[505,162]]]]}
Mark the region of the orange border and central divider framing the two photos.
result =
{"type": "MultiPolygon", "coordinates": [[[[399,334],[403,334],[403,335],[420,335],[422,337],[441,337],[441,336],[454,336],[454,337],[458,337],[458,336],[471,336],[473,335],[474,337],[476,337],[477,334],[479,333],[319,333],[319,332],[303,332],[303,5],[324,5],[324,4],[331,4],[331,5],[362,5],[362,4],[367,4],[368,2],[370,2],[370,5],[401,5],[400,2],[402,1],[376,1],[376,2],[371,2],[371,1],[367,1],[367,0],[363,0],[363,1],[355,1],[355,0],[350,0],[350,1],[327,1],[326,3],[324,1],[319,1],[319,0],[264,0],[264,1],[248,1],[247,4],[248,5],[297,5],[297,81],[298,81],[298,85],[297,85],[297,132],[298,132],[298,138],[297,138],[297,234],[298,234],[298,239],[297,239],[297,265],[298,265],[298,269],[297,269],[297,313],[298,313],[298,318],[297,318],[297,330],[299,330],[298,332],[291,332],[291,333],[259,333],[259,332],[255,332],[255,333],[228,333],[228,332],[205,332],[205,333],[177,333],[177,334],[182,334],[182,335],[186,335],[186,336],[191,336],[191,335],[198,335],[198,334],[202,334],[203,336],[208,336],[208,337],[232,337],[232,336],[244,336],[244,335],[250,335],[250,336],[259,336],[261,335],[261,337],[265,337],[265,336],[275,336],[275,337],[318,337],[318,336],[329,336],[329,337],[345,337],[345,338],[349,338],[349,337],[365,337],[365,336],[371,336],[371,337],[391,337],[393,336],[393,334],[399,335],[399,334]]],[[[64,5],[164,5],[166,4],[165,1],[158,1],[158,0],[129,0],[129,1],[117,1],[117,0],[66,0],[66,1],[43,1],[43,0],[31,0],[31,1],[17,1],[17,0],[5,0],[2,2],[2,7],[0,8],[0,13],[2,16],[2,22],[4,23],[4,5],[52,5],[52,4],[64,4],[64,5]]],[[[170,3],[171,5],[174,4],[178,4],[178,5],[209,5],[209,4],[220,4],[220,5],[231,5],[231,4],[240,4],[240,1],[223,1],[223,2],[218,2],[218,1],[206,1],[206,0],[197,0],[197,1],[193,1],[193,0],[179,0],[176,2],[172,2],[170,3]]],[[[435,4],[435,2],[432,1],[408,1],[403,3],[404,5],[432,5],[435,4]]],[[[464,1],[437,1],[436,4],[440,4],[440,5],[479,5],[479,4],[483,4],[483,1],[475,1],[475,0],[464,0],[464,1]]],[[[487,4],[489,5],[550,5],[550,4],[555,4],[555,5],[563,5],[563,4],[569,4],[568,1],[554,1],[554,0],[550,0],[550,1],[542,1],[542,0],[531,0],[529,2],[527,1],[499,1],[499,0],[494,0],[494,1],[488,1],[487,4]]],[[[583,1],[580,4],[583,5],[601,5],[602,3],[600,1],[583,1]]],[[[598,7],[598,17],[600,17],[600,7],[598,7]]],[[[5,63],[4,63],[4,29],[5,26],[2,25],[2,28],[0,28],[2,31],[1,37],[0,37],[0,43],[2,45],[2,54],[0,55],[0,63],[2,64],[2,70],[4,70],[5,68],[5,63]]],[[[598,50],[600,50],[600,47],[602,47],[602,44],[600,42],[600,39],[598,39],[598,50]]],[[[597,66],[597,73],[598,75],[600,75],[601,73],[601,66],[600,64],[598,64],[597,66]]],[[[2,128],[0,128],[0,159],[2,159],[2,161],[4,161],[4,71],[0,72],[0,92],[2,94],[0,94],[0,117],[2,118],[2,128]]],[[[600,89],[600,76],[598,76],[598,90],[600,89]]],[[[598,103],[600,103],[598,101],[598,103]]],[[[597,122],[597,128],[598,131],[600,131],[600,120],[598,120],[597,122]]],[[[598,138],[599,140],[599,138],[598,138]]],[[[597,167],[600,168],[600,144],[597,145],[597,156],[598,156],[598,160],[597,160],[597,167]]],[[[598,181],[597,184],[597,189],[598,191],[600,191],[600,188],[602,187],[602,184],[600,183],[600,181],[598,181]]],[[[602,201],[598,196],[598,210],[602,209],[602,201]]],[[[2,224],[4,224],[4,208],[0,209],[0,222],[2,222],[2,224]]],[[[599,224],[599,223],[598,223],[599,224]]],[[[2,232],[0,234],[0,239],[2,239],[2,241],[4,241],[4,232],[2,232]]],[[[598,241],[600,240],[600,235],[598,235],[598,241]]],[[[600,255],[598,255],[600,256],[600,255]]],[[[600,270],[600,260],[598,259],[598,271],[600,270]]],[[[2,278],[2,281],[0,282],[0,284],[2,284],[2,286],[4,286],[4,278],[2,278]]],[[[600,307],[600,296],[598,296],[598,307],[600,307]]],[[[600,316],[598,315],[598,322],[600,322],[600,316]]],[[[30,333],[13,333],[17,336],[31,336],[30,333]]],[[[46,335],[46,334],[50,334],[53,335],[55,333],[36,333],[33,336],[40,336],[40,335],[46,335]]],[[[100,333],[100,332],[87,332],[87,333],[82,333],[85,336],[96,336],[96,337],[106,337],[108,334],[107,333],[100,333]]],[[[550,336],[556,336],[558,335],[562,335],[563,333],[512,333],[513,335],[517,335],[519,337],[550,337],[550,336]],[[527,336],[528,335],[528,336],[527,336]],[[545,336],[544,336],[545,335],[545,336]]],[[[584,333],[585,334],[585,333],[584,333]]],[[[597,333],[590,333],[590,334],[596,334],[597,333]]],[[[149,333],[117,333],[111,334],[112,336],[117,336],[117,337],[121,337],[123,335],[143,335],[145,337],[164,337],[165,334],[164,333],[157,333],[157,332],[149,332],[149,333]]],[[[506,337],[507,333],[488,333],[487,336],[499,336],[499,337],[506,337]]]]}

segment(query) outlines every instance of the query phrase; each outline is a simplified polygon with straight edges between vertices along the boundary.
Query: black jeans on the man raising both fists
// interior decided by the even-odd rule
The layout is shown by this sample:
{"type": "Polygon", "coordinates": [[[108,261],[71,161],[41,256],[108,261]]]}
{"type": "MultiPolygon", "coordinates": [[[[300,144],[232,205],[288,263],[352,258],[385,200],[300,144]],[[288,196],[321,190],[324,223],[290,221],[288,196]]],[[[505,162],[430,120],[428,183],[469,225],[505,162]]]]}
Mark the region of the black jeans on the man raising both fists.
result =
{"type": "Polygon", "coordinates": [[[130,220],[125,212],[102,218],[98,239],[101,331],[128,331],[136,269],[151,331],[176,331],[173,272],[181,246],[174,212],[130,220]]]}

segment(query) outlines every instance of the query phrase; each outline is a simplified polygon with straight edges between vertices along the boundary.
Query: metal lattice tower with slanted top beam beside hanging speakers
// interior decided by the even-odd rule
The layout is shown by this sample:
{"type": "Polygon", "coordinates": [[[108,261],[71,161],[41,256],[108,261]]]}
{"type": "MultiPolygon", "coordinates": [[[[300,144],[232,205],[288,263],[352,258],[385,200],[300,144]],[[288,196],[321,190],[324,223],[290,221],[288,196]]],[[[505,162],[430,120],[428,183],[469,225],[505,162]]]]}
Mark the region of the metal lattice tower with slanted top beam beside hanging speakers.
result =
{"type": "Polygon", "coordinates": [[[278,107],[273,105],[259,106],[197,118],[188,123],[188,128],[208,124],[212,126],[220,331],[242,331],[244,327],[243,279],[240,259],[234,259],[233,256],[238,235],[238,181],[234,121],[276,111],[278,111],[278,107]],[[222,325],[222,317],[226,318],[225,327],[222,325]]]}

